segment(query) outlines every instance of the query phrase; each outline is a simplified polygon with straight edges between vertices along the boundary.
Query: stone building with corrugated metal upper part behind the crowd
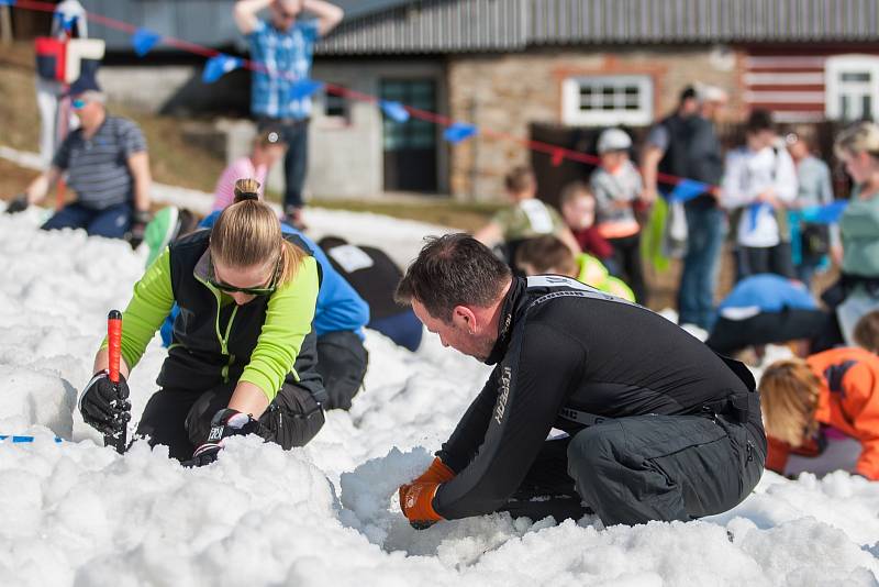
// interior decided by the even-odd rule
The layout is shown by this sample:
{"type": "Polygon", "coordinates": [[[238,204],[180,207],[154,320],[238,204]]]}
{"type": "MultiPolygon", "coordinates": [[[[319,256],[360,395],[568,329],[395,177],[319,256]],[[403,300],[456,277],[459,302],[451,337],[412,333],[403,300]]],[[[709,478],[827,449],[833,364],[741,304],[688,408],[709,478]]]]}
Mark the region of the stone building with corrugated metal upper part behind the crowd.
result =
{"type": "MultiPolygon", "coordinates": [[[[727,90],[732,122],[754,107],[787,122],[876,118],[879,109],[879,0],[336,1],[346,19],[320,43],[312,77],[359,99],[316,97],[308,190],[318,196],[494,199],[511,166],[546,158],[525,141],[617,124],[639,134],[697,80],[727,90]],[[442,124],[394,122],[372,99],[479,133],[450,145],[442,124]]],[[[165,35],[245,47],[232,0],[84,3],[165,35]]],[[[127,34],[108,30],[105,38],[116,56],[131,52],[127,34]]],[[[102,82],[130,102],[158,100],[156,109],[198,103],[246,115],[246,71],[204,86],[200,59],[181,64],[165,47],[146,62],[107,64],[102,82]]]]}

